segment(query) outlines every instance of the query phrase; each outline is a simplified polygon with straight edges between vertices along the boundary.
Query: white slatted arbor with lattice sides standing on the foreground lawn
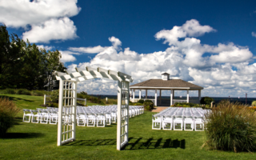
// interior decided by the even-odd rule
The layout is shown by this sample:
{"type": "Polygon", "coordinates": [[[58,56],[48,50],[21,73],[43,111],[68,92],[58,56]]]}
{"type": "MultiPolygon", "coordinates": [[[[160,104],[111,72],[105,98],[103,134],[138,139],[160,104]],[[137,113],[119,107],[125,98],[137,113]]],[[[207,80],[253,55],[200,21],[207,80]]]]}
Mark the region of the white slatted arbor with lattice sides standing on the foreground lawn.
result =
{"type": "Polygon", "coordinates": [[[117,150],[126,146],[129,126],[129,87],[130,82],[133,82],[131,76],[90,66],[86,66],[86,69],[76,68],[76,72],[55,73],[56,79],[59,80],[57,145],[62,146],[75,140],[77,83],[94,78],[108,78],[118,81],[117,150]]]}

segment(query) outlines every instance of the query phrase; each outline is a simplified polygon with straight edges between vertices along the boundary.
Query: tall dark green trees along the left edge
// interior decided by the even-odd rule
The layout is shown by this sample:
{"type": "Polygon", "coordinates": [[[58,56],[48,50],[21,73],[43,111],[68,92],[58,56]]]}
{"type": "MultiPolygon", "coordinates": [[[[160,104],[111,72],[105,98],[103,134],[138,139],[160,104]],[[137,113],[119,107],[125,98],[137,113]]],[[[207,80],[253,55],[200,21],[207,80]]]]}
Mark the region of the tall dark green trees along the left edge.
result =
{"type": "Polygon", "coordinates": [[[58,88],[54,70],[64,71],[58,50],[50,51],[24,42],[0,26],[0,89],[24,88],[53,90],[58,88]]]}

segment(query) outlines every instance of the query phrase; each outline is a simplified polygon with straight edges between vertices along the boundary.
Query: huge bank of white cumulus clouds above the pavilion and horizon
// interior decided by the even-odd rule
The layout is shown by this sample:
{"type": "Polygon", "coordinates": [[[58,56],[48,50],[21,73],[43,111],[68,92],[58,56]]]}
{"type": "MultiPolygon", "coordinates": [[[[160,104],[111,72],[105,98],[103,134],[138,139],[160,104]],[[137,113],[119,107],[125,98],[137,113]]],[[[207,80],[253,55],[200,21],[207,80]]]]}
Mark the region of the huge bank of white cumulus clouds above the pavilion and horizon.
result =
{"type": "MultiPolygon", "coordinates": [[[[232,42],[210,46],[192,37],[213,31],[212,27],[201,26],[196,20],[174,26],[171,30],[160,30],[155,37],[157,40],[163,39],[169,46],[166,50],[150,54],[138,54],[129,47],[120,51],[122,42],[112,37],[109,38],[110,42],[115,43],[96,54],[90,62],[68,68],[74,70],[76,66],[92,66],[117,70],[130,74],[134,78],[133,84],[150,78],[161,78],[161,74],[167,72],[171,78],[181,78],[203,86],[203,96],[242,97],[245,92],[254,94],[256,63],[253,63],[254,57],[248,47],[232,42]]],[[[87,86],[80,86],[79,90],[97,94],[116,94],[117,91],[114,82],[104,84],[102,80],[94,80],[85,83],[87,86]]],[[[170,93],[166,92],[166,95],[170,93]]],[[[197,93],[194,95],[197,96],[197,93]]]]}

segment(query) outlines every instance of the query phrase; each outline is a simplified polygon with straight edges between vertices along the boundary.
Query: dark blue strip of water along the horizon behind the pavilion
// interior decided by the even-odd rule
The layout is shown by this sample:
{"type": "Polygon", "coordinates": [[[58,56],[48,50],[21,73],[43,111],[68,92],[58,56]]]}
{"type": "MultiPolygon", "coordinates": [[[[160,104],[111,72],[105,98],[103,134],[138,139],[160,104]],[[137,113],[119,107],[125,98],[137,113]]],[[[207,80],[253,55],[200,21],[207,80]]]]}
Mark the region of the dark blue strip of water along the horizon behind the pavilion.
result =
{"type": "MultiPolygon", "coordinates": [[[[117,95],[101,95],[101,94],[90,94],[91,96],[97,97],[100,96],[101,98],[111,98],[111,99],[116,99],[118,98],[117,95]]],[[[138,96],[135,95],[135,98],[138,98],[138,96]]],[[[147,98],[154,99],[154,96],[147,96],[147,98]]],[[[251,102],[256,101],[256,98],[225,98],[225,97],[211,97],[214,98],[214,102],[218,103],[221,102],[222,100],[230,100],[230,102],[240,102],[242,104],[251,104],[251,102]]],[[[162,96],[162,99],[170,99],[168,96],[162,96]]],[[[186,99],[186,96],[181,97],[174,97],[174,99],[186,99]]],[[[197,97],[190,97],[190,99],[197,99],[197,97]]]]}

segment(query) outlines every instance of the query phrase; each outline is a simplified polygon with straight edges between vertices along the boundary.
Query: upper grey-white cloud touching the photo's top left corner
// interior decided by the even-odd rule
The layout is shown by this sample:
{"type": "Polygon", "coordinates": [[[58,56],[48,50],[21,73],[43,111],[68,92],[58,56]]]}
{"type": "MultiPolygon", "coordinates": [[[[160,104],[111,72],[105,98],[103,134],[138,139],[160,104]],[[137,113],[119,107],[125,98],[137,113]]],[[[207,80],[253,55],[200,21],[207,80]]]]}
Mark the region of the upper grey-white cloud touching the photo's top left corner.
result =
{"type": "Polygon", "coordinates": [[[11,27],[38,25],[51,18],[72,17],[79,13],[77,0],[2,0],[0,22],[11,27]]]}

